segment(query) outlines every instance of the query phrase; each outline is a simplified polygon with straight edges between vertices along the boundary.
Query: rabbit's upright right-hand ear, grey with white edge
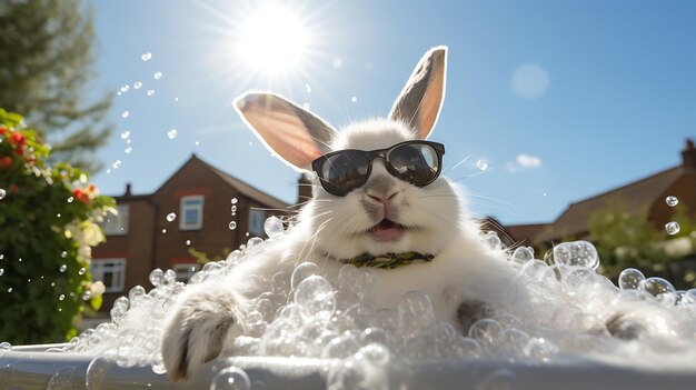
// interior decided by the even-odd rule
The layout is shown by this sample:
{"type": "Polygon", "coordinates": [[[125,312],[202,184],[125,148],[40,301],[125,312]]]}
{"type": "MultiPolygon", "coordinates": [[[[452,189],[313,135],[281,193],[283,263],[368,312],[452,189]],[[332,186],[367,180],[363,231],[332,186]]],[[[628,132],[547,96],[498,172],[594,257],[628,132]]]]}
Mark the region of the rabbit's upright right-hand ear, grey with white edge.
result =
{"type": "Polygon", "coordinates": [[[447,47],[430,49],[414,69],[406,87],[391,108],[389,118],[399,120],[427,139],[435,128],[445,99],[447,47]]]}

